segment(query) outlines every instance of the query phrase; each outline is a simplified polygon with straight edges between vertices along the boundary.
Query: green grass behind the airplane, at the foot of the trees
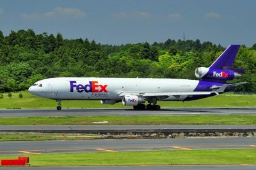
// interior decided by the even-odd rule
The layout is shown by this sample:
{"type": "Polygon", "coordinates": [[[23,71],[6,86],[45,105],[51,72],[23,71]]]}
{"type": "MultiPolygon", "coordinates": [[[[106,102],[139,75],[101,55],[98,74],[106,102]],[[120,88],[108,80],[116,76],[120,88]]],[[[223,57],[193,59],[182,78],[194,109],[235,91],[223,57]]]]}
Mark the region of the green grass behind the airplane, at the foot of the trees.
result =
{"type": "MultiPolygon", "coordinates": [[[[201,100],[189,102],[157,102],[161,107],[256,107],[256,96],[250,95],[220,95],[201,100]]],[[[12,93],[12,98],[8,93],[4,93],[4,98],[0,99],[0,108],[56,108],[57,102],[47,98],[36,97],[29,91],[12,93]],[[22,93],[23,98],[19,98],[22,93]]],[[[63,101],[63,108],[132,108],[124,106],[122,103],[115,105],[102,105],[99,101],[63,101]]]]}

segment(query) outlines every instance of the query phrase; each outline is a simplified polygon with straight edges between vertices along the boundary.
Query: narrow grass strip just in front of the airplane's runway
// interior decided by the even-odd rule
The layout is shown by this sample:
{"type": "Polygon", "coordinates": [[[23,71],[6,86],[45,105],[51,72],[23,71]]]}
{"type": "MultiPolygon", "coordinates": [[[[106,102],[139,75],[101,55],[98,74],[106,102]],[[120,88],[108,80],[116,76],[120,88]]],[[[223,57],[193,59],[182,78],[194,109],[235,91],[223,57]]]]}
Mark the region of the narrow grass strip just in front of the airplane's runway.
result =
{"type": "Polygon", "coordinates": [[[256,115],[0,118],[0,125],[255,125],[256,115]]]}

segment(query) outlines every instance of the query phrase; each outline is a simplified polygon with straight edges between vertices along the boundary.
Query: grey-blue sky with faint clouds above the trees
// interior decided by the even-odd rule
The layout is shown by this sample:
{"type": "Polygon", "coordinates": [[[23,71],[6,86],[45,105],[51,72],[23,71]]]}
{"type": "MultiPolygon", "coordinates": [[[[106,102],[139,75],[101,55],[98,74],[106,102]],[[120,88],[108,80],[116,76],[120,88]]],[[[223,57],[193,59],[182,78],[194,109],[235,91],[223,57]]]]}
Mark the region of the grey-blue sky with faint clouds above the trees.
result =
{"type": "Polygon", "coordinates": [[[0,30],[33,29],[121,45],[200,40],[227,47],[256,43],[254,0],[0,0],[0,30]]]}

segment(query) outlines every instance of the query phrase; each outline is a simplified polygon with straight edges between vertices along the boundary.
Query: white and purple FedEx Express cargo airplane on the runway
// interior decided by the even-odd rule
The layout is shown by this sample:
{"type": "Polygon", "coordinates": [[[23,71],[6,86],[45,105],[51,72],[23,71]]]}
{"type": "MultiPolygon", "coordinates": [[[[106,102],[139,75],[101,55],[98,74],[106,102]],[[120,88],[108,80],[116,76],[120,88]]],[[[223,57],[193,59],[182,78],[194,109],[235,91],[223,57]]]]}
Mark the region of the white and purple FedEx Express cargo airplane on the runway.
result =
{"type": "Polygon", "coordinates": [[[220,95],[241,84],[227,81],[241,77],[243,68],[232,64],[240,45],[229,45],[209,67],[199,67],[195,76],[200,80],[152,78],[57,77],[35,82],[28,90],[44,98],[62,100],[100,100],[101,104],[132,105],[134,110],[160,110],[157,101],[189,101],[220,95]],[[145,102],[148,102],[145,105],[145,102]]]}

